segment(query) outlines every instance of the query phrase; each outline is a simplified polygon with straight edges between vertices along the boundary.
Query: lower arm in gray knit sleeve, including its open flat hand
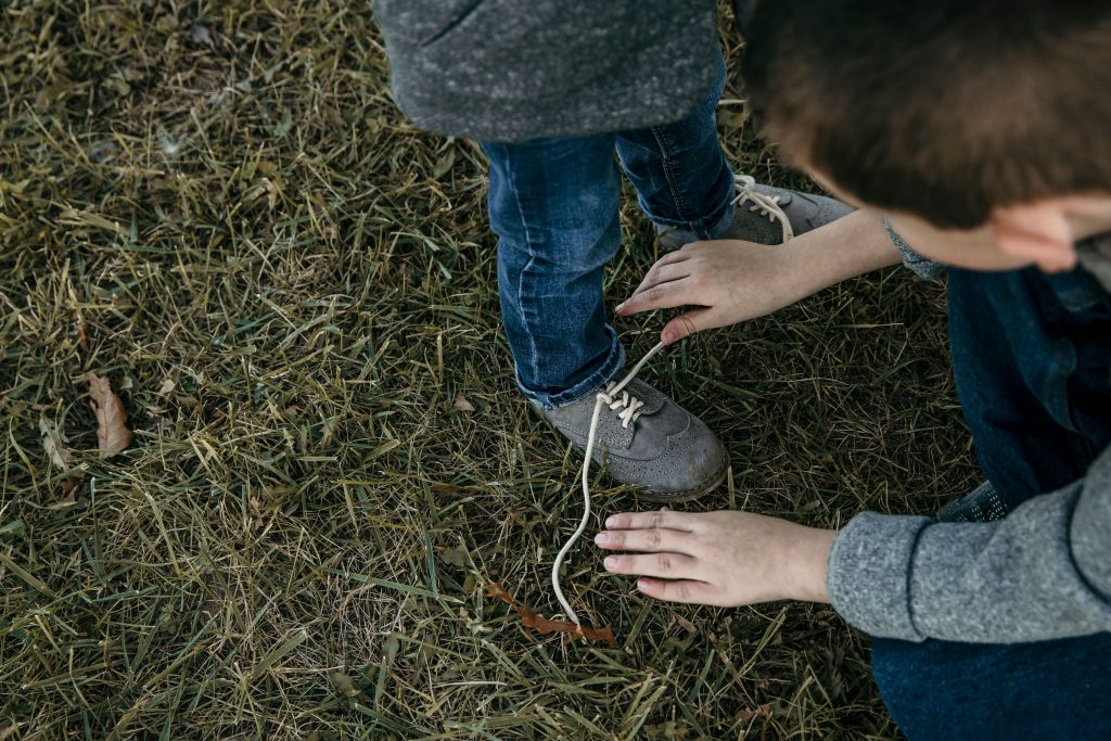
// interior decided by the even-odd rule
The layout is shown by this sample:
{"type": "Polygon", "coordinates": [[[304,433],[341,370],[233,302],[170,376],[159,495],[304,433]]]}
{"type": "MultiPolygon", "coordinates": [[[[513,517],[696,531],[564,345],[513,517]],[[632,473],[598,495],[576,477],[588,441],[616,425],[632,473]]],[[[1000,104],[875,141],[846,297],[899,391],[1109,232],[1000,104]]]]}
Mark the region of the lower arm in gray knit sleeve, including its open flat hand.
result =
{"type": "MultiPolygon", "coordinates": [[[[640,512],[595,542],[675,602],[832,601],[902,640],[1012,643],[1111,630],[1111,448],[1088,477],[988,523],[864,512],[840,533],[750,512],[640,512]]],[[[611,560],[612,559],[612,560],[611,560]]]]}

